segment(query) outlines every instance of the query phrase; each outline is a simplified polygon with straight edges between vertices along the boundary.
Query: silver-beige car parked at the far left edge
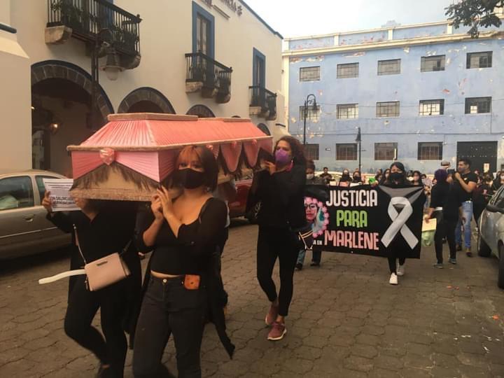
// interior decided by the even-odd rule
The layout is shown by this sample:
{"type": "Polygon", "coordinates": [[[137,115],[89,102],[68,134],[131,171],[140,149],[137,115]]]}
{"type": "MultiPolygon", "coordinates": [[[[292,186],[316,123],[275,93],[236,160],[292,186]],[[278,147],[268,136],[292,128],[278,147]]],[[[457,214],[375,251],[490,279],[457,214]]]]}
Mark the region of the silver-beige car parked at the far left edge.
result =
{"type": "Polygon", "coordinates": [[[65,179],[48,171],[0,171],[0,260],[68,246],[71,236],[45,216],[43,179],[65,179]]]}

